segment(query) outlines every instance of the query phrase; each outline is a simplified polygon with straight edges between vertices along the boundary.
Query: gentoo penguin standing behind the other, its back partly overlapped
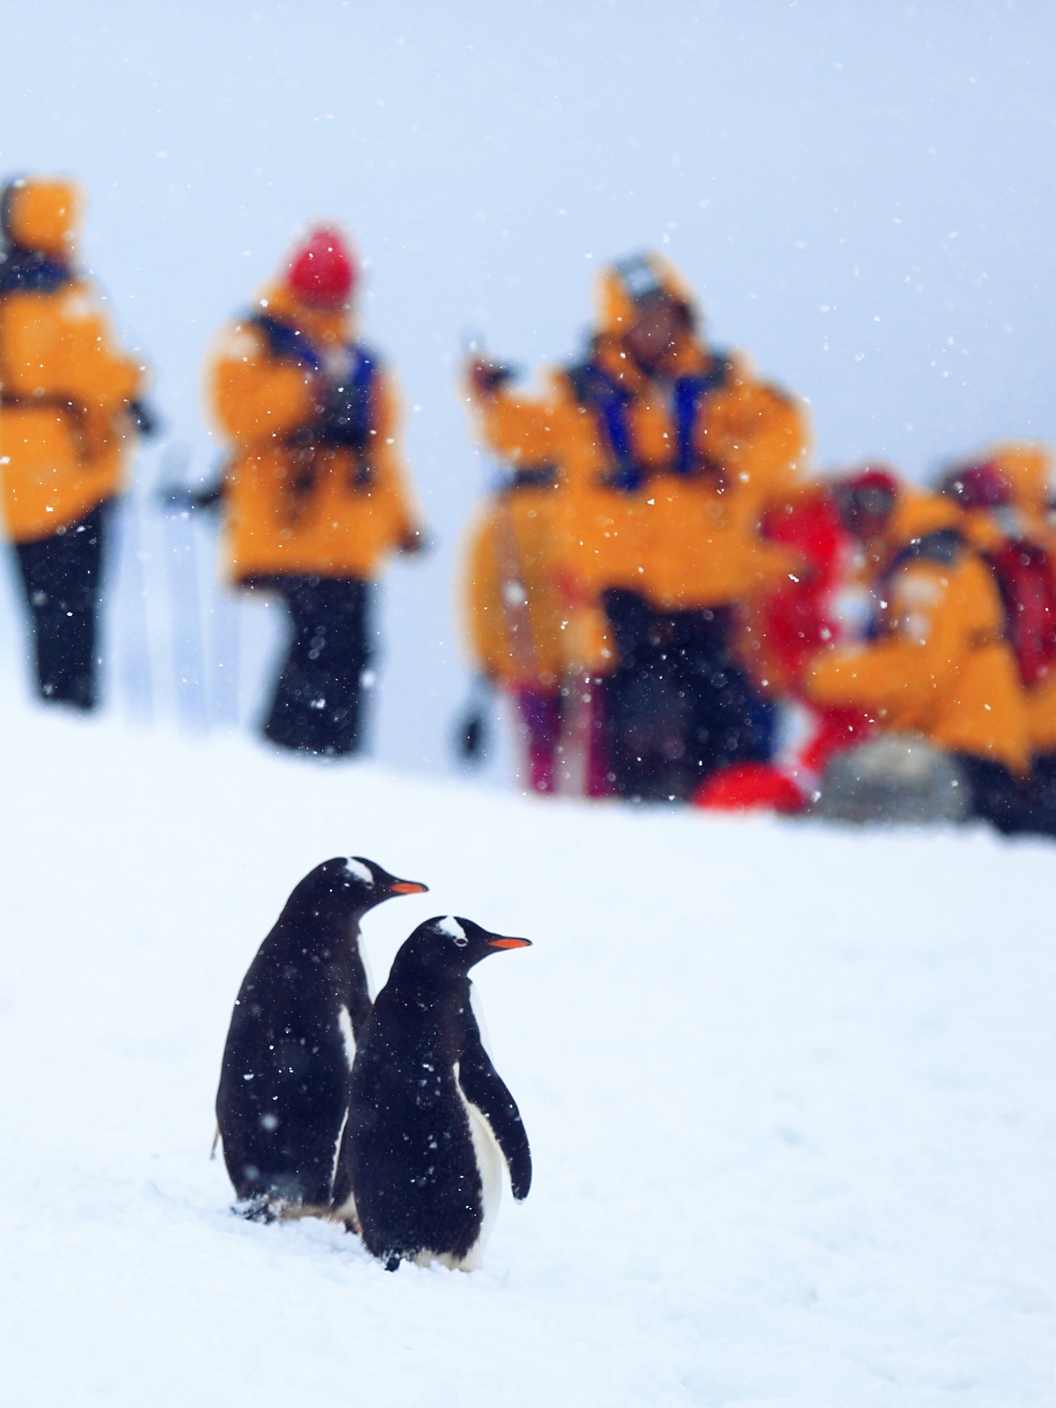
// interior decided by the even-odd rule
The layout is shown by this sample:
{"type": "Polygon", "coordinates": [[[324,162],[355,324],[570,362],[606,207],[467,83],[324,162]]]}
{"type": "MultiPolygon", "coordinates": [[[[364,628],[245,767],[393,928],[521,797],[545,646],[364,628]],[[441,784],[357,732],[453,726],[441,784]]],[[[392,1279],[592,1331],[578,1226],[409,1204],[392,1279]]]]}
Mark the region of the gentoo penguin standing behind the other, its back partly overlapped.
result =
{"type": "Polygon", "coordinates": [[[327,860],[296,887],[242,980],[224,1048],[217,1121],[248,1217],[329,1207],[355,1043],[370,1017],[359,921],[396,894],[373,860],[327,860]]]}

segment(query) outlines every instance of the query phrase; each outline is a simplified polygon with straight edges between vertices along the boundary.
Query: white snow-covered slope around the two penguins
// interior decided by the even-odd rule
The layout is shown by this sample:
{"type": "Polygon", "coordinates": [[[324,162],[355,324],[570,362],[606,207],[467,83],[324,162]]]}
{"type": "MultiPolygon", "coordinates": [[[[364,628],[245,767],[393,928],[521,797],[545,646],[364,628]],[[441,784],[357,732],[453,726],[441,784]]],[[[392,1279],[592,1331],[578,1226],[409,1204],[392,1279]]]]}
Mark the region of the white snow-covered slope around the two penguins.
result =
{"type": "Polygon", "coordinates": [[[8,707],[0,1363],[63,1408],[1052,1404],[1056,848],[542,804],[8,707]],[[449,910],[532,1139],[472,1276],[251,1226],[242,972],[360,852],[449,910]]]}

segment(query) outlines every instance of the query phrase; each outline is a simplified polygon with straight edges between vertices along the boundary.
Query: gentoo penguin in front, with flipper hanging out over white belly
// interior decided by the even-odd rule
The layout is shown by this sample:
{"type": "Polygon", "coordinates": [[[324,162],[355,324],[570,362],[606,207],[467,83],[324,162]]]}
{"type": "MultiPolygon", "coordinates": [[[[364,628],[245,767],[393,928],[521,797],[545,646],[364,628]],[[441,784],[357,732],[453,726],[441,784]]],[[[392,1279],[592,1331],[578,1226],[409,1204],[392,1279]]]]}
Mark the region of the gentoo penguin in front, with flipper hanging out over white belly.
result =
{"type": "Polygon", "coordinates": [[[390,1271],[432,1260],[470,1271],[498,1211],[501,1166],[520,1202],[532,1156],[513,1095],[480,1041],[469,970],[528,939],[470,919],[429,919],[377,994],[352,1069],[334,1215],[390,1271]]]}

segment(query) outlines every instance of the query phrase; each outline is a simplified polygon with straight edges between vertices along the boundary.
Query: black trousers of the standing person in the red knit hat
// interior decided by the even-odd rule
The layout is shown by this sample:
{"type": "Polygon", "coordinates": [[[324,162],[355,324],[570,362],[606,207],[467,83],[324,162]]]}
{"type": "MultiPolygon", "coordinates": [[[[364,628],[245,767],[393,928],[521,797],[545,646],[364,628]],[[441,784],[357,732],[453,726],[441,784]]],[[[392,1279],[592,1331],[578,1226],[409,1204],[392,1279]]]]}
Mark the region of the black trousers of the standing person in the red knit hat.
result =
{"type": "Polygon", "coordinates": [[[270,577],[293,634],[263,735],[282,748],[339,758],[362,743],[363,676],[370,662],[370,584],[356,577],[270,577]]]}

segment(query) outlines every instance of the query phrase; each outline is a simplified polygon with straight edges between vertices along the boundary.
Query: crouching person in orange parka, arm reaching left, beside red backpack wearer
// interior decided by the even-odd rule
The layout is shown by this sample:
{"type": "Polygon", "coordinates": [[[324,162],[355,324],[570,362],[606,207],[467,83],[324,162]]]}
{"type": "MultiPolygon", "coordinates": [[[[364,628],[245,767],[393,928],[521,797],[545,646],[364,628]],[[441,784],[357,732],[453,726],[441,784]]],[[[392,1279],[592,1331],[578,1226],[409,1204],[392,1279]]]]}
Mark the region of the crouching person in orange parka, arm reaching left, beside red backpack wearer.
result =
{"type": "Polygon", "coordinates": [[[956,755],[973,812],[1004,832],[1022,829],[1031,760],[1022,689],[1001,597],[963,514],[938,494],[911,490],[873,539],[888,553],[874,593],[874,638],[818,656],[808,694],[956,755]]]}

